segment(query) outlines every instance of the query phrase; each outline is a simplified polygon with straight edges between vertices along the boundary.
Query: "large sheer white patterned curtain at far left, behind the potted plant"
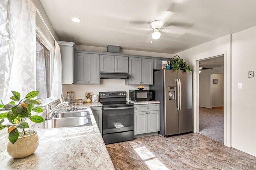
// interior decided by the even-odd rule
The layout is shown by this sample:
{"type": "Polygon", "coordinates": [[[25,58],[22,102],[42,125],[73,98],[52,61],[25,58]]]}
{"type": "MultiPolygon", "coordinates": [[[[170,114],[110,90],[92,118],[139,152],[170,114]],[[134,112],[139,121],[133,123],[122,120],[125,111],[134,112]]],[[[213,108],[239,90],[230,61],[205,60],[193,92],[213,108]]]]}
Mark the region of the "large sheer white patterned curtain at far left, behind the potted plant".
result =
{"type": "Polygon", "coordinates": [[[31,0],[0,0],[0,98],[35,90],[36,7],[31,0]]]}

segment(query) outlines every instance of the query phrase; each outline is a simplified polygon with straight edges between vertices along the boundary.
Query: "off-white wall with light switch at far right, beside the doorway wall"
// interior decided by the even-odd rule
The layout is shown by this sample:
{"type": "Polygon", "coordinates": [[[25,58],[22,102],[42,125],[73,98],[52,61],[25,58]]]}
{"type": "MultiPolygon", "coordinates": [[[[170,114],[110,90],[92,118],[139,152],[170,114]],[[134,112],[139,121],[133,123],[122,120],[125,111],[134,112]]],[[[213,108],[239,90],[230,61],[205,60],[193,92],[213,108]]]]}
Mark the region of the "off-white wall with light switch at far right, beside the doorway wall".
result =
{"type": "Polygon", "coordinates": [[[232,146],[256,156],[256,75],[248,71],[256,74],[256,27],[232,35],[232,146]]]}

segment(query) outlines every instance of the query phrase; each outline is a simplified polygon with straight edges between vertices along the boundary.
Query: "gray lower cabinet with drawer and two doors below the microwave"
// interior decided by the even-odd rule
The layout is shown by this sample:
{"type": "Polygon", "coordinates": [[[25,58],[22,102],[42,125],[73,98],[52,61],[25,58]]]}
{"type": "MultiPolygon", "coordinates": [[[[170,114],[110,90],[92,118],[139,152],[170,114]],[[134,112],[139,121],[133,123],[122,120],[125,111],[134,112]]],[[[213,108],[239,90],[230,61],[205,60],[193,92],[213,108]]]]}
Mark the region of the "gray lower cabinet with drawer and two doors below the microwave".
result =
{"type": "Polygon", "coordinates": [[[159,104],[134,105],[134,135],[160,131],[159,104]]]}

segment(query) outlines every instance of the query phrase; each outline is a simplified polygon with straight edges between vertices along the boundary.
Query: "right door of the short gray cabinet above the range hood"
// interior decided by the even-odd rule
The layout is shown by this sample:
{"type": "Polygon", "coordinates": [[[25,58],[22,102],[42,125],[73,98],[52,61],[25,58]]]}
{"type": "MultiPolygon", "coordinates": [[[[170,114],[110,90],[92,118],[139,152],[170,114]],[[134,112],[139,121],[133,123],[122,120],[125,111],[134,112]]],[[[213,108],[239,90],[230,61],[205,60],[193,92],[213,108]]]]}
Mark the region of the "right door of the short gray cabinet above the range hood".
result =
{"type": "Polygon", "coordinates": [[[116,73],[128,73],[128,57],[115,56],[115,72],[116,73]]]}

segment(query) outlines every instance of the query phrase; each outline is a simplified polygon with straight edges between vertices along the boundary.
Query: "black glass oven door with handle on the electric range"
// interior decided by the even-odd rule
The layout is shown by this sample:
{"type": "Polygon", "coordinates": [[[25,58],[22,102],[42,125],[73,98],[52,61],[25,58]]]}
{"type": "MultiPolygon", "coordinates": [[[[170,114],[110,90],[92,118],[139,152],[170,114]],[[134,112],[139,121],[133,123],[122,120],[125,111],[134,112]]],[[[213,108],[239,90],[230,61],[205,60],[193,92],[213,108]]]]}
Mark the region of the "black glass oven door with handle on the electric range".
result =
{"type": "Polygon", "coordinates": [[[103,107],[103,134],[134,130],[134,107],[103,107]]]}

